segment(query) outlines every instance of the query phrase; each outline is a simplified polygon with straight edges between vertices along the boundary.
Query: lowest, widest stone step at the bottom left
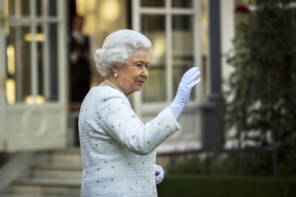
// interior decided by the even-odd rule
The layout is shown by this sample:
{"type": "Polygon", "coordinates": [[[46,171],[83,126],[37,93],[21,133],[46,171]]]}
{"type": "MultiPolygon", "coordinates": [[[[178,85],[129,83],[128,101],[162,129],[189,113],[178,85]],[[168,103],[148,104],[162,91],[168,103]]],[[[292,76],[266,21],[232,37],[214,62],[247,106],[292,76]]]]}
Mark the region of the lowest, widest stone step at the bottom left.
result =
{"type": "Polygon", "coordinates": [[[19,178],[10,185],[11,194],[80,196],[81,180],[19,178]]]}

